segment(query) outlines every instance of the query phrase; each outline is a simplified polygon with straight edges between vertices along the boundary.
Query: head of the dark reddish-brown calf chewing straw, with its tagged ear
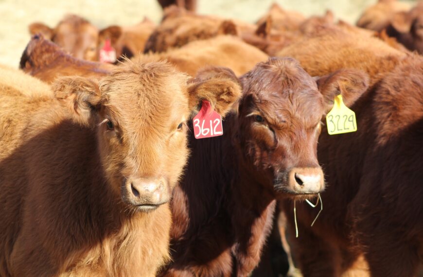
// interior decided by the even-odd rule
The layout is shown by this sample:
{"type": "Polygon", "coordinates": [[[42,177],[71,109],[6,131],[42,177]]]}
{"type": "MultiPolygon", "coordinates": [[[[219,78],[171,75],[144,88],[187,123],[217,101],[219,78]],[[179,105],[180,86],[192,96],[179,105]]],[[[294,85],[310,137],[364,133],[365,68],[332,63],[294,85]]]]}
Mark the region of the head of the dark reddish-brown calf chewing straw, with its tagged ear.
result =
{"type": "Polygon", "coordinates": [[[339,93],[351,105],[366,90],[367,76],[341,70],[312,78],[292,58],[271,58],[241,79],[237,138],[257,178],[277,196],[322,191],[317,161],[321,119],[339,93]]]}

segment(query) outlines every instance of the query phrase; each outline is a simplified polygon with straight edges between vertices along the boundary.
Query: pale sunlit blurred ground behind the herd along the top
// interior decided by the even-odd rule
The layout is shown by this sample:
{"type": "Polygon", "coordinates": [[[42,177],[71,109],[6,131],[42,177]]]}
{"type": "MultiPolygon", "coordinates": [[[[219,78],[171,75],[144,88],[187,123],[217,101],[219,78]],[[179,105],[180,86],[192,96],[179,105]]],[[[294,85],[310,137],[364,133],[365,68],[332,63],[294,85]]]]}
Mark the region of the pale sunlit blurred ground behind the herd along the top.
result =
{"type": "MultiPolygon", "coordinates": [[[[274,0],[198,0],[198,13],[214,14],[254,22],[274,0]]],[[[276,0],[287,10],[304,15],[323,14],[354,23],[363,9],[376,0],[276,0]]],[[[156,0],[0,0],[0,64],[18,67],[19,58],[30,38],[28,25],[41,21],[54,26],[65,14],[88,18],[99,28],[111,24],[132,25],[144,16],[155,22],[161,18],[156,0]]]]}

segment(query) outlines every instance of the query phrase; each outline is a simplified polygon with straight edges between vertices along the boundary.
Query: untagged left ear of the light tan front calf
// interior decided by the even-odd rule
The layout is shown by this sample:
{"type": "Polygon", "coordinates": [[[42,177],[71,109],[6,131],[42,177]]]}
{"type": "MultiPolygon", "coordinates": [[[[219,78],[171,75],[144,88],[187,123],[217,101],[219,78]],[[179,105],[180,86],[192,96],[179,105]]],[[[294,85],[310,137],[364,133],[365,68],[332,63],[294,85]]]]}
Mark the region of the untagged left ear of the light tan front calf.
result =
{"type": "Polygon", "coordinates": [[[52,84],[54,96],[68,108],[74,121],[94,126],[100,108],[101,93],[97,82],[79,77],[62,77],[52,84]]]}

